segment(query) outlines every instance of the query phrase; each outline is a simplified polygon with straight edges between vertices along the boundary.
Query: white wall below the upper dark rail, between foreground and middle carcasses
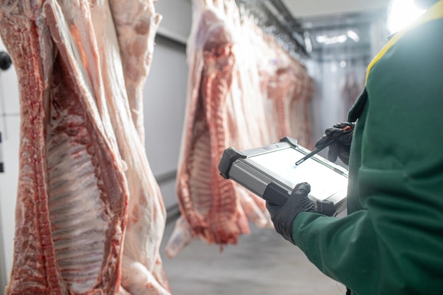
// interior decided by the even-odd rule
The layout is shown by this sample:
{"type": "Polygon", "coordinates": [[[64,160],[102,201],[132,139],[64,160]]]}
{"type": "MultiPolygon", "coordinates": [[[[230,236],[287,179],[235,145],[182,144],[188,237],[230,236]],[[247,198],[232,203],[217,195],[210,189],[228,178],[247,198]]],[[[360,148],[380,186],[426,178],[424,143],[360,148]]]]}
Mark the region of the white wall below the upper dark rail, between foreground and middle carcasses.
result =
{"type": "MultiPolygon", "coordinates": [[[[173,175],[180,150],[188,66],[185,47],[157,37],[144,88],[146,154],[154,175],[173,175]]],[[[177,204],[175,178],[159,183],[166,208],[177,204]]]]}

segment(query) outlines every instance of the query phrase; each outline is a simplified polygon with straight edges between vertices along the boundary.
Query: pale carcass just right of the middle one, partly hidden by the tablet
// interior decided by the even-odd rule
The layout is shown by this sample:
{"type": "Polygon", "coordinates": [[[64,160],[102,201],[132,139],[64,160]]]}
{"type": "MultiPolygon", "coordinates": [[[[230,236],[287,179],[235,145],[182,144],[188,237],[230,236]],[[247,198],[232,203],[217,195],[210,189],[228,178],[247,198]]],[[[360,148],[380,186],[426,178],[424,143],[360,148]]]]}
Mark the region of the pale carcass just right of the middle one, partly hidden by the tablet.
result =
{"type": "MultiPolygon", "coordinates": [[[[251,28],[248,18],[241,18],[237,26],[239,26],[236,38],[238,62],[228,105],[229,134],[231,135],[229,146],[244,150],[269,144],[276,141],[277,137],[272,134],[273,125],[265,123],[269,110],[263,96],[262,81],[258,70],[260,62],[263,61],[263,56],[259,55],[263,52],[251,54],[258,50],[255,42],[251,42],[251,37],[256,36],[257,28],[251,28]]],[[[234,188],[248,220],[259,228],[272,227],[263,199],[241,185],[235,184],[234,188]]]]}

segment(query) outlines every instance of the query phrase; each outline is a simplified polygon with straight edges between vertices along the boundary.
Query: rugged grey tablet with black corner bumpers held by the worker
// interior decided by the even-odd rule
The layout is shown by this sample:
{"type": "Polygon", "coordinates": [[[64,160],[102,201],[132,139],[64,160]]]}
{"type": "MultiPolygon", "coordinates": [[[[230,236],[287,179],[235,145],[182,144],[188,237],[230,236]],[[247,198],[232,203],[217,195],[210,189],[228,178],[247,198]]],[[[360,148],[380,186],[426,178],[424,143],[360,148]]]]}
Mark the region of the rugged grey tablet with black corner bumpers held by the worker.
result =
{"type": "Polygon", "coordinates": [[[280,142],[246,151],[225,149],[219,163],[220,174],[274,204],[284,204],[297,183],[309,183],[309,198],[318,212],[335,216],[346,207],[347,170],[315,155],[296,166],[309,154],[297,140],[280,142]]]}

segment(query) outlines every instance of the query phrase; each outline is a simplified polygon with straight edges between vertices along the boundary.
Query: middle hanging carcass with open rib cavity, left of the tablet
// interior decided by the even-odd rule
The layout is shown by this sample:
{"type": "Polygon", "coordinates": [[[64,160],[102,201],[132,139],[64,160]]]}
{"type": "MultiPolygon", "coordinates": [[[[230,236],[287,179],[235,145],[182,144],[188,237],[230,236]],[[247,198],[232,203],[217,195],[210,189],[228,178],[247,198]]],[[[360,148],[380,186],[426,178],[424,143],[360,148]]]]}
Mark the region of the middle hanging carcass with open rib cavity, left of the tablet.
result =
{"type": "MultiPolygon", "coordinates": [[[[192,236],[208,243],[236,243],[248,232],[234,184],[219,175],[218,161],[229,144],[226,104],[236,63],[231,33],[221,10],[194,5],[200,26],[188,46],[188,110],[178,168],[179,204],[192,236]],[[201,11],[200,11],[201,9],[201,11]]],[[[178,221],[183,224],[183,221],[178,221]]],[[[172,238],[171,241],[176,241],[172,238]]],[[[169,247],[171,249],[176,246],[169,247]]]]}

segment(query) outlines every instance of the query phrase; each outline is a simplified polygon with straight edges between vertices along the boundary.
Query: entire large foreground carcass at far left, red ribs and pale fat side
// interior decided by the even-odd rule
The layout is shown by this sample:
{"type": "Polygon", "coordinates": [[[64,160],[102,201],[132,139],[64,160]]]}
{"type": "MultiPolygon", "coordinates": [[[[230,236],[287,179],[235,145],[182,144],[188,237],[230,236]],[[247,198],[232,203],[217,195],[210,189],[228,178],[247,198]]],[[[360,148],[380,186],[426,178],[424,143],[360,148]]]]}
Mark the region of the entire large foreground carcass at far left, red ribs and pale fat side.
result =
{"type": "Polygon", "coordinates": [[[159,256],[166,212],[132,121],[108,2],[1,1],[0,11],[22,116],[6,294],[169,294],[159,256]]]}

